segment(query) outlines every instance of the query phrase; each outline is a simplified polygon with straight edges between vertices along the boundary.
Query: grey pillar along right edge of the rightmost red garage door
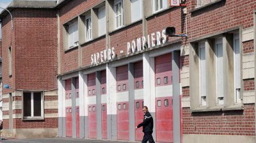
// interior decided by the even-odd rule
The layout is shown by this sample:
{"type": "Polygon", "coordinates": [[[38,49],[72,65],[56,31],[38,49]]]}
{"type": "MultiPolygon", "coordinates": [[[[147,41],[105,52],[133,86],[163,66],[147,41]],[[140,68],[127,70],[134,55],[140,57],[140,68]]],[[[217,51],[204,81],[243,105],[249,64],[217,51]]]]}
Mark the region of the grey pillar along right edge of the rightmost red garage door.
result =
{"type": "Polygon", "coordinates": [[[180,143],[180,52],[172,52],[172,103],[174,123],[174,143],[180,143]]]}

